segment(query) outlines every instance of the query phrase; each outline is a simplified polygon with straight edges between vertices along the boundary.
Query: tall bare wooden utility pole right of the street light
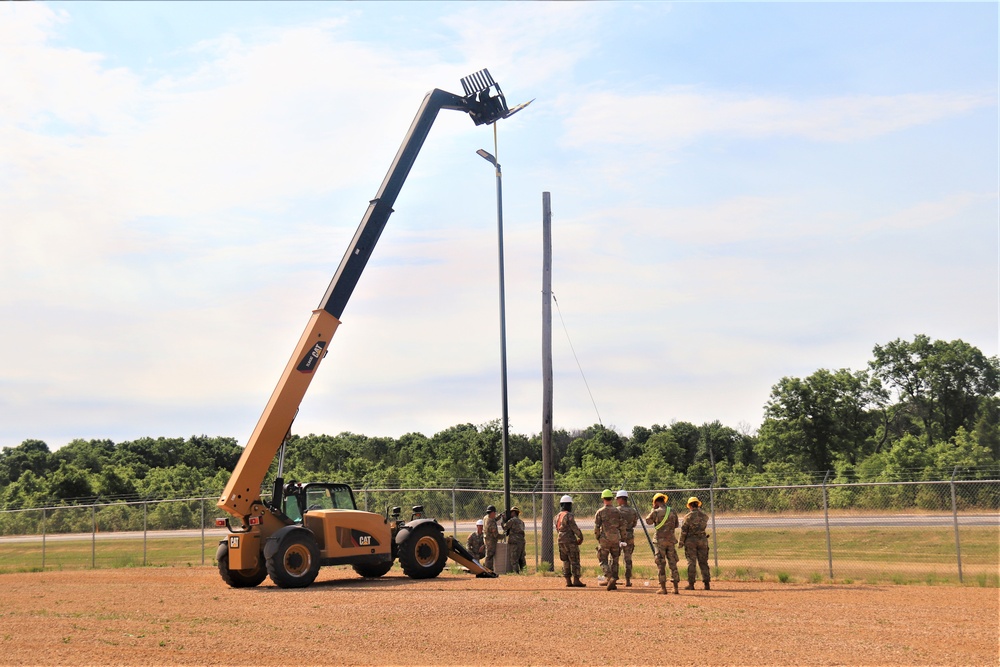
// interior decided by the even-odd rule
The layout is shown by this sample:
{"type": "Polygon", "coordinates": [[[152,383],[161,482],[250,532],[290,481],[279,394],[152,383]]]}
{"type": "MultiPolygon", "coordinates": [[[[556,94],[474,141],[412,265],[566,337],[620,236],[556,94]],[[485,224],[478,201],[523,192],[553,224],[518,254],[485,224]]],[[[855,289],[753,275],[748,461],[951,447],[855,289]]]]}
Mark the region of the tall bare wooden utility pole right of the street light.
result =
{"type": "Polygon", "coordinates": [[[542,193],[542,553],[552,563],[552,202],[542,193]]]}

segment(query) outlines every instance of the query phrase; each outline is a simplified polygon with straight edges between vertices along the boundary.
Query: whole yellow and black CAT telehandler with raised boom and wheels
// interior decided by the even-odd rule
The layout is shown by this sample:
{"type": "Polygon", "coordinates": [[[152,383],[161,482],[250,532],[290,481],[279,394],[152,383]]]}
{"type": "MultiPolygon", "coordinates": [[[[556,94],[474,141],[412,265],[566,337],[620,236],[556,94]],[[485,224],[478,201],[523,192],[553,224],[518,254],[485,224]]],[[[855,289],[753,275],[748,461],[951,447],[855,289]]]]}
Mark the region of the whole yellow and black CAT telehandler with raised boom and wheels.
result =
{"type": "Polygon", "coordinates": [[[217,506],[239,519],[239,526],[216,521],[229,529],[216,552],[219,574],[234,588],[257,586],[268,576],[282,588],[308,586],[322,565],[351,565],[363,577],[380,577],[397,558],[414,579],[436,577],[448,558],[476,576],[496,576],[445,535],[441,524],[424,517],[419,505],[404,520],[398,507],[384,515],[358,510],[346,484],[286,484],[283,478],[292,421],[438,111],[464,111],[476,125],[489,125],[530,104],[508,108],[485,69],[463,78],[462,88],[464,95],[434,89],[424,97],[219,498],[217,506]],[[270,501],[264,501],[261,486],[276,454],[277,476],[270,501]]]}

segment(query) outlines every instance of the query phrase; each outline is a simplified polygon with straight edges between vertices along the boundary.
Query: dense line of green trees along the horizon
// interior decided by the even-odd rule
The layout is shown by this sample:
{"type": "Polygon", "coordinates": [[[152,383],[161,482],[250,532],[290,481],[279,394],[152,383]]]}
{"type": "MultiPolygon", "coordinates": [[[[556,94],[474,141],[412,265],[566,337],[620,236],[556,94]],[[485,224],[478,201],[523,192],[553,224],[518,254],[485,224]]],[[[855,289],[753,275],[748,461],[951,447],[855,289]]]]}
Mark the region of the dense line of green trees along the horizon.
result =
{"type": "MultiPolygon", "coordinates": [[[[718,421],[595,424],[552,436],[557,488],[697,488],[938,480],[1000,472],[1000,362],[961,340],[918,335],[876,345],[863,370],[819,369],[771,389],[756,431],[718,421]]],[[[540,434],[508,438],[511,485],[542,476],[540,434]]],[[[0,450],[0,508],[221,492],[242,452],[230,437],[40,440],[0,450]]],[[[292,435],[285,479],[356,487],[502,485],[499,420],[431,437],[292,435]]],[[[272,466],[272,476],[274,466],[272,466]]]]}

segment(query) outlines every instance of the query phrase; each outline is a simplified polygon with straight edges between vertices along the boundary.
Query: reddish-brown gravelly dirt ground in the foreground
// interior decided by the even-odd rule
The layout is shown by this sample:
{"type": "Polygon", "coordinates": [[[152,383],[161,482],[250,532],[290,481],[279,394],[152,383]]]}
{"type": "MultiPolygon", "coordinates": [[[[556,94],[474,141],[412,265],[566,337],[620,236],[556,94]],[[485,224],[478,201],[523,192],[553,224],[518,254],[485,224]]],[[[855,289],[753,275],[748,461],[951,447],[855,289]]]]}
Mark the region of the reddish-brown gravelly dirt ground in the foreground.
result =
{"type": "Polygon", "coordinates": [[[589,580],[227,587],[213,567],[0,575],[3,665],[997,665],[995,588],[589,580]]]}

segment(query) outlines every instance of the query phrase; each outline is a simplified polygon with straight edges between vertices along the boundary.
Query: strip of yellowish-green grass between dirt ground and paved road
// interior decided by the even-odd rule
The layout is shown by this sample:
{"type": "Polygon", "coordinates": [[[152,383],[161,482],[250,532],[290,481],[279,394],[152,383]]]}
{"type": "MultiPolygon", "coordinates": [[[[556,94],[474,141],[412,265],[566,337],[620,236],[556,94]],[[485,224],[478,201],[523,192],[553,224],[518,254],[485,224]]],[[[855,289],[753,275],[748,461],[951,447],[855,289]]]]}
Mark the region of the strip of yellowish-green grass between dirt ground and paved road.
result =
{"type": "MultiPolygon", "coordinates": [[[[45,544],[44,568],[40,539],[37,542],[0,541],[0,575],[40,572],[43,569],[53,571],[91,567],[214,565],[218,536],[206,535],[203,541],[200,536],[195,535],[169,539],[153,535],[151,533],[145,542],[141,533],[136,533],[134,539],[109,539],[98,533],[96,540],[90,535],[83,535],[78,540],[56,539],[54,535],[50,535],[45,544]]],[[[964,574],[962,583],[983,588],[1000,588],[1000,575],[997,574],[1000,570],[1000,530],[991,526],[964,526],[960,537],[964,574]]],[[[837,581],[849,580],[873,585],[886,582],[922,585],[960,583],[955,533],[950,526],[835,527],[830,538],[833,574],[837,581]]],[[[584,577],[593,579],[601,574],[596,543],[589,533],[585,534],[585,539],[580,549],[581,565],[584,577]]],[[[529,532],[526,559],[533,567],[537,553],[535,542],[535,536],[529,532]]],[[[538,542],[541,542],[541,536],[538,542]]],[[[709,562],[714,579],[777,579],[783,583],[793,580],[820,583],[826,580],[816,574],[826,572],[828,568],[826,532],[822,528],[720,528],[710,542],[713,544],[709,562]]],[[[687,561],[683,553],[678,555],[680,560],[677,567],[681,578],[685,579],[687,561]]],[[[451,563],[448,571],[455,572],[451,563]]],[[[539,560],[534,571],[539,574],[561,572],[562,561],[550,564],[548,560],[539,560]]],[[[624,558],[619,558],[619,576],[624,578],[624,574],[624,558]]],[[[636,540],[632,578],[648,581],[655,581],[657,578],[653,555],[648,544],[641,539],[636,540]]]]}

